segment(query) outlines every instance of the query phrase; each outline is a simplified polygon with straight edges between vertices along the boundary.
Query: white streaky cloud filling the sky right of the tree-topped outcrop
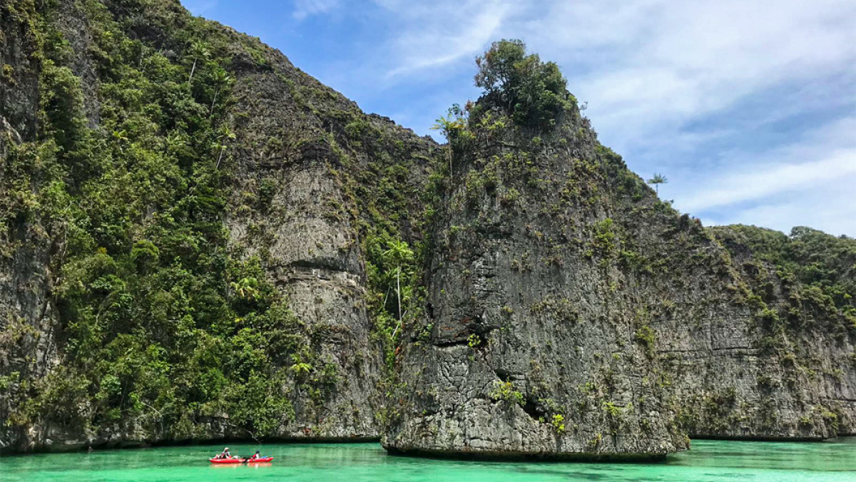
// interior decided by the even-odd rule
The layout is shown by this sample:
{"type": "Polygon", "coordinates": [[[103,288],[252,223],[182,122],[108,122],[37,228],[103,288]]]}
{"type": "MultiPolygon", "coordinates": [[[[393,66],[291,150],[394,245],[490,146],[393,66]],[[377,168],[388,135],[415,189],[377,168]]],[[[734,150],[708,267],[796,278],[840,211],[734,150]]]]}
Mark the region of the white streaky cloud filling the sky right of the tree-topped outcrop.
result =
{"type": "Polygon", "coordinates": [[[604,143],[665,171],[677,207],[856,235],[856,3],[555,2],[528,25],[604,143]],[[782,122],[800,126],[776,138],[782,122]]]}

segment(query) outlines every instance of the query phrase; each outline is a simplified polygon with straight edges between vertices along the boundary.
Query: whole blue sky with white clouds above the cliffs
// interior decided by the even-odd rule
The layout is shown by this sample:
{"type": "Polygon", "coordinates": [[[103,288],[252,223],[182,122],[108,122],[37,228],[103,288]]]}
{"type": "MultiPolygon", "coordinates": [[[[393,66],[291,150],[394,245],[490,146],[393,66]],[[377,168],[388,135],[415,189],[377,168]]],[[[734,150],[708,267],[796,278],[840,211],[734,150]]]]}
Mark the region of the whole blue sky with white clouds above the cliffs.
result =
{"type": "Polygon", "coordinates": [[[605,146],[705,225],[856,237],[854,0],[182,0],[366,112],[431,134],[523,39],[605,146]]]}

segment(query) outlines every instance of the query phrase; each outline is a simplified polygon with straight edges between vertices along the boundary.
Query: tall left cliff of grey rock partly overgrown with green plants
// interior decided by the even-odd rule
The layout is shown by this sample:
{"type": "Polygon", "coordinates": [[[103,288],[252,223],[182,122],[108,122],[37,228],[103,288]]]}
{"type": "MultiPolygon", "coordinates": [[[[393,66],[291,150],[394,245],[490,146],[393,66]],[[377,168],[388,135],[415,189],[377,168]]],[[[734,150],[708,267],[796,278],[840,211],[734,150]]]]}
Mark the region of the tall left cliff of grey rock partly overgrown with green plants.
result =
{"type": "MultiPolygon", "coordinates": [[[[364,253],[364,247],[378,235],[419,241],[420,229],[413,220],[422,211],[419,189],[431,170],[436,143],[389,119],[367,116],[338,92],[294,68],[280,52],[228,27],[193,19],[177,1],[69,0],[44,8],[29,2],[7,2],[0,6],[0,25],[4,56],[0,78],[0,153],[3,154],[0,175],[4,168],[9,169],[9,176],[4,178],[8,184],[0,190],[27,186],[32,180],[32,191],[25,188],[15,195],[18,199],[32,195],[32,199],[38,199],[35,202],[44,202],[41,191],[51,185],[51,179],[21,174],[20,166],[29,162],[27,153],[62,144],[66,152],[74,154],[68,156],[62,151],[55,154],[56,169],[79,172],[80,168],[71,166],[80,162],[73,160],[82,150],[80,146],[86,148],[92,139],[104,134],[107,139],[97,149],[104,158],[112,154],[116,165],[125,162],[123,158],[130,152],[142,153],[141,149],[162,142],[166,146],[177,142],[179,151],[166,167],[158,168],[166,179],[161,177],[155,183],[175,182],[169,178],[169,170],[187,169],[188,164],[195,170],[189,179],[206,176],[206,170],[225,173],[222,181],[215,181],[221,187],[223,205],[218,204],[221,201],[217,193],[187,185],[179,187],[175,200],[168,201],[175,205],[190,200],[189,209],[199,209],[193,208],[195,201],[191,199],[201,194],[207,196],[205,202],[211,203],[205,209],[211,206],[216,210],[213,229],[199,228],[211,226],[211,218],[202,220],[202,224],[197,220],[195,224],[175,229],[176,233],[181,229],[207,233],[197,239],[213,245],[203,258],[196,258],[198,254],[190,254],[193,245],[187,243],[199,241],[193,241],[192,236],[181,241],[185,246],[180,245],[179,251],[188,253],[184,255],[189,261],[186,272],[193,271],[194,265],[201,266],[205,257],[210,263],[225,253],[225,259],[201,271],[220,270],[216,276],[223,279],[215,283],[219,284],[217,294],[206,293],[205,288],[197,285],[201,293],[181,295],[205,296],[204,303],[208,305],[201,310],[191,307],[184,315],[181,310],[175,312],[175,305],[150,305],[151,300],[146,300],[147,295],[142,292],[96,295],[99,298],[95,304],[96,324],[104,314],[103,318],[110,317],[110,323],[117,327],[108,325],[91,347],[103,350],[100,374],[92,373],[91,362],[84,361],[73,348],[82,342],[77,327],[83,321],[77,317],[86,316],[92,308],[75,306],[80,299],[68,298],[68,277],[63,275],[89,265],[85,259],[90,256],[101,256],[108,265],[129,259],[136,264],[134,270],[141,270],[138,274],[151,275],[154,268],[134,261],[137,255],[127,243],[103,244],[109,242],[109,236],[96,234],[92,240],[96,244],[87,241],[84,247],[78,243],[77,248],[69,248],[68,225],[79,223],[80,218],[74,219],[77,215],[45,209],[25,216],[27,211],[17,199],[2,198],[0,418],[9,423],[0,426],[0,449],[63,449],[247,437],[316,440],[379,437],[375,417],[383,403],[380,388],[386,370],[383,357],[394,347],[389,345],[386,335],[381,333],[383,327],[376,324],[371,314],[377,309],[369,306],[376,294],[366,274],[366,263],[372,259],[364,253]],[[63,42],[56,44],[55,39],[63,42]],[[125,50],[112,50],[114,45],[125,50]],[[194,48],[197,50],[193,51],[194,48]],[[163,90],[155,94],[159,97],[155,104],[142,107],[139,103],[140,95],[149,95],[140,92],[152,86],[140,84],[135,71],[158,76],[158,88],[163,90]],[[172,73],[178,74],[177,79],[172,73]],[[137,100],[132,100],[134,96],[137,100]],[[67,99],[68,103],[63,104],[57,98],[67,99]],[[159,112],[161,109],[171,113],[159,112]],[[187,116],[180,110],[191,114],[187,116]],[[37,122],[39,115],[44,116],[44,125],[37,122]],[[133,121],[129,120],[132,118],[133,121]],[[128,123],[117,124],[117,119],[128,123]],[[55,134],[51,129],[62,122],[68,123],[69,128],[59,130],[79,130],[83,134],[74,139],[72,134],[62,137],[55,134]],[[146,125],[154,125],[155,132],[145,141],[140,138],[136,144],[134,137],[152,128],[140,131],[140,126],[146,125]],[[199,141],[197,145],[187,141],[194,137],[203,143],[206,138],[213,141],[214,148],[208,151],[211,154],[205,152],[210,149],[205,144],[200,149],[199,141]],[[123,142],[126,145],[119,146],[123,142]],[[134,147],[128,148],[131,145],[134,147]],[[117,146],[120,151],[111,151],[110,146],[117,146]],[[182,196],[185,200],[181,200],[182,196]],[[221,232],[225,233],[222,238],[221,232]],[[254,269],[253,266],[258,266],[259,271],[253,271],[252,278],[246,272],[229,274],[230,270],[246,271],[245,268],[254,269]],[[241,280],[241,277],[247,278],[241,280]],[[252,284],[241,286],[240,282],[247,279],[252,279],[252,284]],[[254,288],[256,283],[258,288],[254,288]],[[238,290],[250,295],[238,295],[238,290]],[[134,326],[137,322],[133,315],[113,318],[107,314],[116,306],[116,298],[122,296],[128,296],[133,305],[143,310],[141,324],[136,329],[118,328],[120,324],[134,326]],[[266,314],[259,312],[257,298],[265,299],[262,304],[268,305],[266,314]],[[234,308],[223,306],[221,299],[234,308]],[[62,309],[57,310],[57,304],[62,309]],[[241,305],[251,307],[247,310],[241,305]],[[181,412],[188,417],[172,418],[167,414],[174,409],[169,408],[173,403],[169,399],[181,392],[178,386],[183,382],[176,381],[175,387],[155,391],[151,385],[143,388],[148,383],[141,379],[146,376],[146,368],[138,366],[134,373],[128,374],[130,378],[116,372],[116,378],[112,378],[115,381],[110,383],[117,383],[123,395],[121,400],[112,398],[105,393],[109,380],[102,377],[113,373],[123,362],[121,358],[110,358],[113,356],[110,347],[121,342],[123,336],[134,339],[141,330],[155,328],[153,320],[160,316],[158,312],[166,316],[164,321],[169,318],[173,321],[157,327],[154,330],[157,335],[149,338],[152,345],[140,349],[142,352],[147,349],[148,353],[158,350],[160,360],[156,363],[167,367],[165,370],[172,377],[183,378],[183,367],[196,370],[193,366],[200,361],[207,364],[217,360],[217,349],[235,352],[234,361],[219,361],[222,365],[219,368],[224,365],[233,372],[243,371],[241,366],[252,360],[248,356],[258,356],[265,350],[261,355],[265,357],[263,366],[252,370],[270,366],[267,375],[276,382],[264,388],[250,388],[250,380],[236,380],[235,391],[231,393],[232,389],[223,389],[221,385],[219,390],[225,391],[225,395],[217,395],[216,390],[205,395],[199,391],[206,390],[201,385],[211,381],[211,374],[206,375],[203,370],[199,372],[201,378],[188,385],[190,391],[178,395],[184,397],[181,404],[185,407],[181,412]],[[176,330],[177,320],[193,320],[192,324],[204,326],[206,312],[216,312],[218,323],[247,323],[243,320],[249,319],[248,316],[268,320],[264,323],[276,331],[266,336],[275,336],[273,342],[278,344],[257,339],[243,348],[229,348],[228,344],[226,348],[222,344],[221,348],[204,348],[205,342],[222,343],[217,341],[220,335],[213,335],[221,329],[209,325],[205,330],[213,337],[200,338],[203,334],[197,331],[196,340],[185,342],[184,346],[174,345],[182,330],[176,330]],[[265,345],[282,348],[265,348],[265,345]],[[202,361],[199,356],[211,361],[202,361]],[[58,366],[62,366],[59,372],[58,366]],[[80,382],[62,383],[62,379],[69,378],[80,382]],[[128,402],[132,390],[133,397],[139,397],[138,402],[128,402]],[[238,421],[242,415],[235,412],[245,403],[258,400],[253,398],[256,395],[252,390],[266,390],[268,395],[264,392],[263,395],[274,397],[267,400],[275,402],[261,399],[258,410],[247,417],[247,422],[238,421]],[[224,406],[232,397],[242,402],[235,403],[235,408],[224,406]],[[194,399],[199,402],[193,402],[194,399]],[[64,409],[56,411],[51,405],[61,405],[64,409]],[[118,418],[111,416],[110,411],[119,414],[118,418]],[[250,421],[259,417],[259,411],[265,412],[269,425],[259,427],[250,421]]],[[[139,158],[116,168],[110,176],[123,176],[122,173],[134,169],[134,164],[140,164],[139,158]]],[[[98,176],[98,172],[80,176],[81,179],[75,179],[69,174],[63,181],[52,182],[64,185],[64,190],[77,197],[75,203],[97,205],[100,202],[97,196],[104,194],[80,186],[94,179],[84,176],[98,176]],[[68,180],[69,177],[72,179],[68,180]]],[[[147,189],[145,185],[135,188],[142,192],[147,189]]],[[[131,205],[138,201],[118,202],[131,205]]],[[[132,221],[136,234],[131,241],[146,240],[139,241],[143,245],[134,245],[138,249],[151,246],[145,244],[152,239],[152,231],[147,233],[147,229],[157,225],[160,219],[176,215],[169,213],[169,206],[158,205],[160,202],[144,201],[145,215],[139,221],[132,221]]],[[[93,214],[100,215],[98,210],[87,214],[89,218],[84,223],[89,224],[89,229],[107,228],[106,220],[99,221],[93,214]]],[[[155,241],[152,248],[147,248],[153,253],[150,256],[155,263],[158,252],[163,256],[164,250],[169,249],[166,244],[155,241]]],[[[139,283],[119,271],[109,276],[122,278],[124,287],[139,283]]],[[[84,281],[81,286],[105,280],[100,277],[84,281]]],[[[77,282],[73,283],[76,286],[77,282]]],[[[166,290],[163,293],[170,293],[169,285],[162,289],[166,290]]],[[[175,293],[178,292],[166,295],[165,300],[174,298],[175,293]]],[[[163,299],[163,295],[159,296],[163,299]]],[[[229,330],[231,336],[227,333],[223,340],[235,340],[241,333],[240,325],[229,330]]],[[[145,363],[147,355],[140,353],[133,357],[145,363]]],[[[205,370],[213,373],[211,368],[205,370]]],[[[229,377],[226,370],[223,374],[229,377]]],[[[252,370],[241,376],[252,377],[252,370]]],[[[215,375],[220,377],[223,375],[215,375]]]]}

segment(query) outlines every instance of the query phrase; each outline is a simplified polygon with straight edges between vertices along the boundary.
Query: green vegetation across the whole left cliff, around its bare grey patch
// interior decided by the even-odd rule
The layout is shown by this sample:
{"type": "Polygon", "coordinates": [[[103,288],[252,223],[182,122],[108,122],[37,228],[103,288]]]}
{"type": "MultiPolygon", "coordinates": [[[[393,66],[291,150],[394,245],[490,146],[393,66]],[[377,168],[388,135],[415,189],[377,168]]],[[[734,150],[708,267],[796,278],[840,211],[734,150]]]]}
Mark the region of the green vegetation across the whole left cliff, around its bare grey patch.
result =
{"type": "MultiPolygon", "coordinates": [[[[38,88],[32,122],[13,118],[27,114],[10,95],[24,86],[4,78],[0,92],[3,116],[31,127],[19,127],[20,143],[0,141],[0,270],[27,279],[21,259],[44,256],[38,303],[56,306],[41,315],[56,317],[49,332],[14,304],[0,312],[0,432],[37,427],[37,443],[282,436],[295,412],[301,424],[342,423],[324,420],[322,405],[337,385],[362,381],[343,379],[338,357],[369,372],[375,354],[322,354],[341,328],[307,326],[315,320],[296,316],[275,287],[259,217],[282,215],[269,210],[283,188],[276,171],[247,176],[237,150],[290,149],[289,163],[310,152],[342,190],[343,203],[325,199],[319,211],[353,223],[369,293],[349,305],[377,322],[372,350],[392,354],[399,318],[414,316],[417,271],[402,239],[419,241],[410,211],[433,143],[175,0],[12,0],[0,19],[4,47],[25,54],[15,68],[32,68],[38,88]],[[265,126],[273,132],[252,131],[247,104],[271,80],[296,111],[273,113],[282,117],[265,126]],[[253,246],[235,241],[229,218],[250,220],[253,246]]],[[[288,433],[309,435],[306,425],[288,433]]]]}

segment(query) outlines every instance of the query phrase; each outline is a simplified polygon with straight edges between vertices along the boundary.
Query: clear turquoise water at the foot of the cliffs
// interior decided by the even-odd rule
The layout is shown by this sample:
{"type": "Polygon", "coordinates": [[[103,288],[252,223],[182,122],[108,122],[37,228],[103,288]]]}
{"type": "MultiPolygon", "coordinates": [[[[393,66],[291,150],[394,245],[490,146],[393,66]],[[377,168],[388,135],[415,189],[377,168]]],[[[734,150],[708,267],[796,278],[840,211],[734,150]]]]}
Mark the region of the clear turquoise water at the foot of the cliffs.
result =
{"type": "Polygon", "coordinates": [[[693,450],[657,464],[440,461],[386,455],[377,443],[231,445],[261,449],[270,465],[212,466],[222,447],[194,445],[0,458],[0,481],[288,480],[361,482],[511,480],[856,481],[856,438],[824,443],[695,441],[693,450]]]}

